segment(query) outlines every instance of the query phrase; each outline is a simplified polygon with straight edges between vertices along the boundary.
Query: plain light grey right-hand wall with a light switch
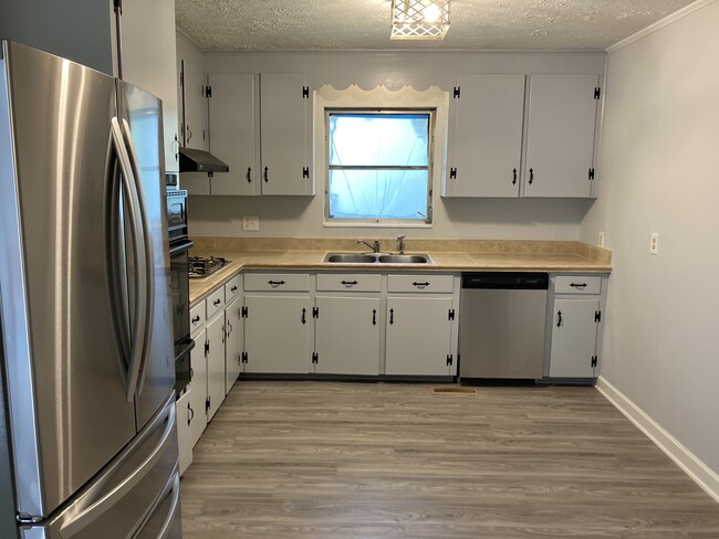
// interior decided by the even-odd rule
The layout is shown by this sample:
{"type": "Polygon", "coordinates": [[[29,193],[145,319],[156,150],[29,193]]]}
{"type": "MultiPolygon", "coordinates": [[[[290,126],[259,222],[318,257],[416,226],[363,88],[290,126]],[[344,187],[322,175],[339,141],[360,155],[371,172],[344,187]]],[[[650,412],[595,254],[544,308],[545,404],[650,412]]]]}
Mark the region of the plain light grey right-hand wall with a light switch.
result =
{"type": "Polygon", "coordinates": [[[608,56],[602,376],[719,473],[719,2],[608,56]],[[659,233],[659,254],[649,234],[659,233]]]}

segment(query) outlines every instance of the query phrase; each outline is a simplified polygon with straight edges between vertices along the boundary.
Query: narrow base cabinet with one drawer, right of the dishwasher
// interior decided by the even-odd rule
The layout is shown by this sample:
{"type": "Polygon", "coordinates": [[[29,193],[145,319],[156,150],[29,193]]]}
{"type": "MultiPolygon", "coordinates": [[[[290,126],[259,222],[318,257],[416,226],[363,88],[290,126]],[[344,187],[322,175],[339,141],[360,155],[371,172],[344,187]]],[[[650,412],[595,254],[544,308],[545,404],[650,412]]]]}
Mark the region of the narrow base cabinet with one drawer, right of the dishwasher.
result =
{"type": "Polygon", "coordinates": [[[600,373],[606,275],[553,275],[545,378],[593,381],[600,373]]]}

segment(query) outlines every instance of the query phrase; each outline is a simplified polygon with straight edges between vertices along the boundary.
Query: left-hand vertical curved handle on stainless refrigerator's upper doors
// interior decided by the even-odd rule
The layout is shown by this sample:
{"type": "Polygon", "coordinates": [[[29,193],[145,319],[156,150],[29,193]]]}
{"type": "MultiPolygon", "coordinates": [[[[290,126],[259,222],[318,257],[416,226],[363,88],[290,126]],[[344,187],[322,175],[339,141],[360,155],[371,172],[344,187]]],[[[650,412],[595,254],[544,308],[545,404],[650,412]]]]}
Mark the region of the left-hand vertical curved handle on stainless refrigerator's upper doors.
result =
{"type": "Polygon", "coordinates": [[[132,168],[129,157],[127,155],[127,147],[123,137],[122,129],[117,118],[111,119],[111,133],[113,144],[117,155],[117,163],[119,166],[122,177],[122,189],[128,203],[126,211],[129,216],[131,236],[133,245],[133,256],[135,258],[135,308],[133,328],[131,331],[131,349],[129,361],[127,366],[127,379],[125,384],[125,397],[127,402],[133,402],[135,398],[135,389],[137,388],[137,378],[139,376],[140,366],[143,362],[143,355],[145,352],[145,327],[147,326],[147,265],[144,257],[146,256],[147,249],[145,246],[145,232],[138,215],[139,201],[137,193],[134,190],[134,169],[132,168]],[[140,262],[142,261],[142,262],[140,262]]]}

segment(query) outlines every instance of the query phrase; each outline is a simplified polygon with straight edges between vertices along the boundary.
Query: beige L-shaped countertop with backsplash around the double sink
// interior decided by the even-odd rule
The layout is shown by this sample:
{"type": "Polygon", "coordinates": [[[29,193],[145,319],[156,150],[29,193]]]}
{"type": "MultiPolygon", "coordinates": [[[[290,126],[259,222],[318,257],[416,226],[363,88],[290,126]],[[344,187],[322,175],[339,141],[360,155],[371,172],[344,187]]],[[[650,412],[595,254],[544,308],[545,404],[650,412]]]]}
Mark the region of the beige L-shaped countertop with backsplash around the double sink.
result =
{"type": "MultiPolygon", "coordinates": [[[[407,250],[407,254],[428,254],[433,264],[337,264],[322,262],[327,252],[355,252],[355,249],[242,249],[244,245],[196,241],[190,255],[222,256],[232,261],[219,272],[190,279],[190,304],[240,271],[334,271],[334,272],[581,272],[609,273],[611,253],[579,242],[493,242],[489,252],[407,250]],[[510,247],[507,244],[511,243],[510,247]],[[566,245],[564,245],[566,244],[566,245]],[[548,246],[549,245],[549,246],[548,246]],[[558,247],[559,245],[559,247],[558,247]],[[566,246],[567,249],[560,249],[566,246]],[[507,249],[504,249],[507,247],[507,249]],[[571,247],[571,249],[570,249],[571,247]],[[507,252],[509,251],[509,252],[507,252]],[[563,252],[561,252],[563,251],[563,252]],[[572,252],[573,251],[573,252],[572,252]]],[[[475,245],[463,242],[465,247],[475,245]]],[[[343,247],[344,245],[338,245],[343,247]]],[[[451,247],[451,245],[449,245],[451,247]]],[[[441,245],[447,247],[447,245],[441,245]]],[[[359,251],[356,251],[359,252],[359,251]]]]}

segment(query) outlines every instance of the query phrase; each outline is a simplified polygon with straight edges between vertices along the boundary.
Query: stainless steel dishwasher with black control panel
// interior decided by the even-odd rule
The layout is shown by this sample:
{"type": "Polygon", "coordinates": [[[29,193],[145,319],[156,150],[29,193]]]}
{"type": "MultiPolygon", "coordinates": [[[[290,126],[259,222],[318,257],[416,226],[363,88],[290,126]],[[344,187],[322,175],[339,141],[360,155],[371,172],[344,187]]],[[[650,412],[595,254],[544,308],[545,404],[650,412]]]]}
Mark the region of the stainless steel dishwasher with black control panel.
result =
{"type": "Polygon", "coordinates": [[[462,274],[462,382],[542,378],[548,288],[546,273],[462,274]]]}

